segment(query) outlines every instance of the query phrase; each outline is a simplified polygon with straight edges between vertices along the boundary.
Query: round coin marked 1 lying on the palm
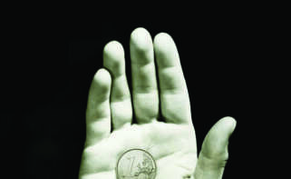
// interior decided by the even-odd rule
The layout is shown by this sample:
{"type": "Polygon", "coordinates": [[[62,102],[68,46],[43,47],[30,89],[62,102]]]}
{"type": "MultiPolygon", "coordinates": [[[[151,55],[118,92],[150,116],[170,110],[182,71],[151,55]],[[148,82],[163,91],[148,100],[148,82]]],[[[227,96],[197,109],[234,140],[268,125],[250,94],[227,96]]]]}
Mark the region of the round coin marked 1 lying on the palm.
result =
{"type": "Polygon", "coordinates": [[[131,149],[123,153],[116,166],[118,179],[154,179],[157,166],[150,155],[142,149],[131,149]]]}

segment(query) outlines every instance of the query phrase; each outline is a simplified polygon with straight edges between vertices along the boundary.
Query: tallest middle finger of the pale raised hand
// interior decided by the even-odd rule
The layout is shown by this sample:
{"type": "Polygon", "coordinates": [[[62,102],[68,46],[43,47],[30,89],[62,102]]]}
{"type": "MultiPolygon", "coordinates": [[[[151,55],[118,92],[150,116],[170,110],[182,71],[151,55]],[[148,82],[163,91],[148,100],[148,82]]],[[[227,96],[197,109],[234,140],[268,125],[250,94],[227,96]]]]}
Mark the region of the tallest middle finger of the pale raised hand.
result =
{"type": "Polygon", "coordinates": [[[143,28],[131,34],[131,73],[134,114],[138,123],[149,123],[159,113],[159,95],[150,34],[143,28]]]}

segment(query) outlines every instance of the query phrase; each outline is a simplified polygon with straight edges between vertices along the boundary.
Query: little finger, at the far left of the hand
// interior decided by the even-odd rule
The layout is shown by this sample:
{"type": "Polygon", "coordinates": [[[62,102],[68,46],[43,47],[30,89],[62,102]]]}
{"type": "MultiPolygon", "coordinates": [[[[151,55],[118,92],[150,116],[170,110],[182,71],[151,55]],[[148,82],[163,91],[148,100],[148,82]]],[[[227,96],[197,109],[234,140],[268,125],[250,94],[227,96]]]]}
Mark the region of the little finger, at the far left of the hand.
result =
{"type": "Polygon", "coordinates": [[[110,91],[112,78],[100,69],[93,77],[86,111],[86,144],[94,144],[111,131],[110,91]]]}

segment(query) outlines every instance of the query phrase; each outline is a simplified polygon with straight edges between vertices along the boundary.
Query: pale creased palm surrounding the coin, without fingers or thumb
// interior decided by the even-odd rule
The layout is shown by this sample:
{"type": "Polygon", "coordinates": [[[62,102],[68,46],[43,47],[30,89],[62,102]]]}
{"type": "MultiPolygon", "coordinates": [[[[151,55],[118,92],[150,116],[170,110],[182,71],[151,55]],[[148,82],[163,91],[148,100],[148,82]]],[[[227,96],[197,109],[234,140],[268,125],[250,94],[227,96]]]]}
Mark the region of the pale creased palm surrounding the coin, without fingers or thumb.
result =
{"type": "Polygon", "coordinates": [[[107,139],[87,148],[86,157],[95,178],[115,178],[119,156],[130,149],[148,151],[157,164],[157,179],[182,178],[193,174],[197,161],[195,134],[188,125],[134,124],[115,131],[107,139]],[[102,161],[102,163],[101,163],[102,161]]]}

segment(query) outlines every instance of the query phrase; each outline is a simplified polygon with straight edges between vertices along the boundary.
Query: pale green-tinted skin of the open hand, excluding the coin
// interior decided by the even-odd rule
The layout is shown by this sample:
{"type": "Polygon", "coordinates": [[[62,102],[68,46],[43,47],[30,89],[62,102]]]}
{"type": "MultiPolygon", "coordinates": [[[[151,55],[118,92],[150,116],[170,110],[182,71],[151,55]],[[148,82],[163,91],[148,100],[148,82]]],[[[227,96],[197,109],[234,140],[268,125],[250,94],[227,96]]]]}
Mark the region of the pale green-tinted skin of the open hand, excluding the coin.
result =
{"type": "Polygon", "coordinates": [[[122,45],[112,41],[104,47],[104,67],[94,75],[89,92],[80,179],[115,179],[118,158],[132,148],[155,158],[157,179],[221,178],[236,121],[224,117],[214,124],[198,157],[174,41],[165,33],[152,40],[147,30],[137,28],[131,33],[130,49],[132,90],[122,45]]]}

